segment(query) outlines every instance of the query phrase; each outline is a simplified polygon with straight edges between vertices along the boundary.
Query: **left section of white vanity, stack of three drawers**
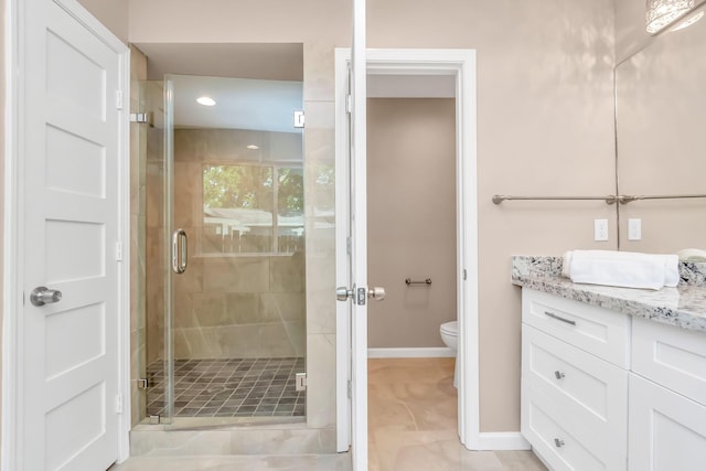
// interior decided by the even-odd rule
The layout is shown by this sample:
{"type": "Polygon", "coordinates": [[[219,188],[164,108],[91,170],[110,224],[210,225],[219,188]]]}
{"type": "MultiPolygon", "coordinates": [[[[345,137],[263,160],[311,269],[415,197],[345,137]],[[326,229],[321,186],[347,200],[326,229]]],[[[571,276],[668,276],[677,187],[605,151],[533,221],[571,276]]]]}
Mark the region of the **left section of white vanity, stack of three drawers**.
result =
{"type": "Polygon", "coordinates": [[[553,470],[624,470],[630,318],[523,289],[522,433],[553,470]]]}

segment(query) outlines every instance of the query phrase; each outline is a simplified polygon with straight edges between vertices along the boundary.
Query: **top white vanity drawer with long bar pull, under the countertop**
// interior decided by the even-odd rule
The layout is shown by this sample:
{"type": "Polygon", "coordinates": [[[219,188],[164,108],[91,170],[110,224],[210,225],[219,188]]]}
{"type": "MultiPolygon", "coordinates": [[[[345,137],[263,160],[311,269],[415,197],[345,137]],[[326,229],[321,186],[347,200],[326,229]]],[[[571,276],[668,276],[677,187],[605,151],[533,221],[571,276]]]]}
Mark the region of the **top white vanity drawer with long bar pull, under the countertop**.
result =
{"type": "Polygon", "coordinates": [[[630,318],[585,302],[522,290],[522,320],[622,368],[630,364],[630,318]]]}

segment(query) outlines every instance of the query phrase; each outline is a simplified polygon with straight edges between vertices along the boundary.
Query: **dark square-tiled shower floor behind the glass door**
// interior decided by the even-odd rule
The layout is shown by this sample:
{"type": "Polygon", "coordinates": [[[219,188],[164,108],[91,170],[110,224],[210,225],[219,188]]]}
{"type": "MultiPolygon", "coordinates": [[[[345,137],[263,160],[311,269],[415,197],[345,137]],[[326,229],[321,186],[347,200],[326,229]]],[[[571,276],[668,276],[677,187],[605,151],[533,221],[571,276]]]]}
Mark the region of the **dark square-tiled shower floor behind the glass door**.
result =
{"type": "MultiPolygon", "coordinates": [[[[163,366],[147,367],[148,416],[164,415],[163,366]]],[[[306,393],[295,389],[295,375],[304,371],[304,358],[176,360],[174,416],[303,416],[306,393]]]]}

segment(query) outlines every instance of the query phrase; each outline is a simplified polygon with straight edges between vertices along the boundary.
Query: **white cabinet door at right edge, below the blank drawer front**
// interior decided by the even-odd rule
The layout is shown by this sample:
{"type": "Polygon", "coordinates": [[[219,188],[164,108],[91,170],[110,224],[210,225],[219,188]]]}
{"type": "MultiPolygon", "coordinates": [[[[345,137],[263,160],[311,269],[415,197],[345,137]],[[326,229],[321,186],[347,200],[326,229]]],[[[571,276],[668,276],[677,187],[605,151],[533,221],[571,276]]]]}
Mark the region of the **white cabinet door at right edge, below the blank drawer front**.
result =
{"type": "Polygon", "coordinates": [[[630,374],[630,471],[703,471],[706,407],[630,374]]]}

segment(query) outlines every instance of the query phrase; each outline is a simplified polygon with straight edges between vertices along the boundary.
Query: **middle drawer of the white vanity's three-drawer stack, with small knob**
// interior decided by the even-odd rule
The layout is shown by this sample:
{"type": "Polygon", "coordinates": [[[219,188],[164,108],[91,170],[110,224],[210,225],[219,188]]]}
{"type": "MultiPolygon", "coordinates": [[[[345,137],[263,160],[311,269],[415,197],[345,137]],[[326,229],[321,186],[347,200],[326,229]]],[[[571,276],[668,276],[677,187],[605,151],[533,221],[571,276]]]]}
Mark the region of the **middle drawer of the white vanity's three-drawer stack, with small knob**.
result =
{"type": "Polygon", "coordinates": [[[522,358],[523,382],[564,400],[585,425],[596,422],[596,432],[627,426],[627,371],[526,324],[522,358]]]}

